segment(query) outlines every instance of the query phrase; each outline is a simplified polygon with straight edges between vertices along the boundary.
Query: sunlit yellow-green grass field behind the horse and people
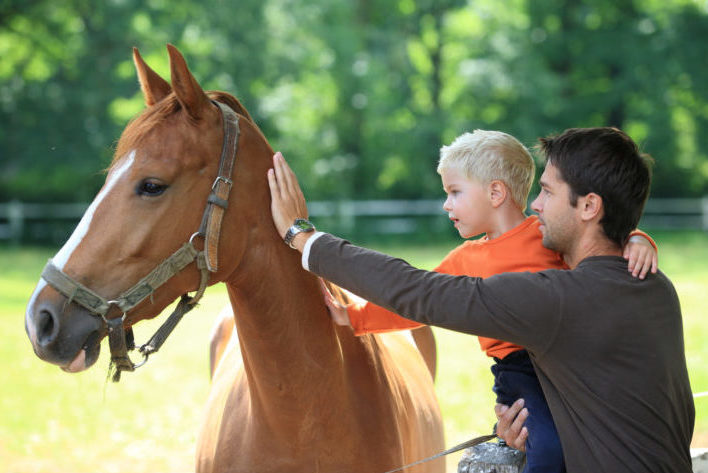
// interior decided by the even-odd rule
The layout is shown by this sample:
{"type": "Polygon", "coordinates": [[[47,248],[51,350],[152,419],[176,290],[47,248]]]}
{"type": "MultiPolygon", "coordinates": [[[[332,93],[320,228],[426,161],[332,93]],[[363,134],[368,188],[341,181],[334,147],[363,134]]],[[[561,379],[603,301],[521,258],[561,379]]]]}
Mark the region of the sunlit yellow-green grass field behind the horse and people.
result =
{"type": "MultiPolygon", "coordinates": [[[[708,391],[708,235],[656,233],[660,267],[673,280],[684,316],[686,356],[695,392],[708,391]]],[[[427,268],[453,246],[379,245],[427,268]]],[[[211,324],[226,303],[211,288],[150,363],[113,384],[107,346],[91,370],[70,375],[41,362],[24,332],[24,308],[52,249],[0,247],[0,465],[7,473],[193,471],[196,433],[208,387],[211,324]]],[[[141,323],[146,340],[159,321],[141,323]]],[[[477,341],[436,329],[438,397],[446,443],[487,433],[494,423],[489,361],[477,341]]],[[[104,343],[105,345],[105,343],[104,343]]],[[[708,397],[696,399],[693,445],[708,447],[708,397]]],[[[362,452],[364,454],[364,452],[362,452]]],[[[453,472],[459,454],[448,460],[453,472]]]]}

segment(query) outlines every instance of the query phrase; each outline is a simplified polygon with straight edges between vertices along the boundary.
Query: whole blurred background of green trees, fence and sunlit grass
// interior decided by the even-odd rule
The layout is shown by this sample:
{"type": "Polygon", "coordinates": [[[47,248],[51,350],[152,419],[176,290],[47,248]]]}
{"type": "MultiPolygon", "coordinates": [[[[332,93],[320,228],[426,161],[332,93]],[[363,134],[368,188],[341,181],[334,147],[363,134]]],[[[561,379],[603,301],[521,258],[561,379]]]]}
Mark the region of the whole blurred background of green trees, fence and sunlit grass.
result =
{"type": "MultiPolygon", "coordinates": [[[[148,375],[104,388],[99,368],[59,373],[22,327],[42,265],[144,107],[134,46],[169,78],[172,43],[205,89],[237,96],[298,172],[318,225],[427,267],[458,243],[440,210],[441,145],[475,128],[529,147],[569,127],[622,128],[656,160],[642,226],[682,298],[694,390],[707,391],[707,39],[705,0],[0,1],[0,465],[193,468],[223,292],[179,339],[201,358],[177,372],[166,348],[150,375],[167,394],[148,375]],[[133,425],[144,416],[149,429],[133,425]]],[[[474,339],[441,337],[454,340],[441,348],[454,382],[438,385],[453,443],[493,422],[491,376],[474,339]]],[[[694,446],[708,447],[706,404],[694,446]]]]}

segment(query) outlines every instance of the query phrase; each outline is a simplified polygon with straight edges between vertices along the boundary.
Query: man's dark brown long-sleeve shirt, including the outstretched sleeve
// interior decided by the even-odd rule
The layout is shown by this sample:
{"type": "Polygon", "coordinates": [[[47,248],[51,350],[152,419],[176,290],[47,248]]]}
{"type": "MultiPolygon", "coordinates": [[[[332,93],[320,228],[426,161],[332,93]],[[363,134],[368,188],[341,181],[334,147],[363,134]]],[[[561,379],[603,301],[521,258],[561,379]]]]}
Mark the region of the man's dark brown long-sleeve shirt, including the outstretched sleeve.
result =
{"type": "MultiPolygon", "coordinates": [[[[531,354],[574,472],[691,472],[681,309],[662,273],[621,257],[487,279],[423,271],[323,234],[309,269],[404,317],[531,354]]],[[[531,413],[533,415],[533,413],[531,413]]]]}

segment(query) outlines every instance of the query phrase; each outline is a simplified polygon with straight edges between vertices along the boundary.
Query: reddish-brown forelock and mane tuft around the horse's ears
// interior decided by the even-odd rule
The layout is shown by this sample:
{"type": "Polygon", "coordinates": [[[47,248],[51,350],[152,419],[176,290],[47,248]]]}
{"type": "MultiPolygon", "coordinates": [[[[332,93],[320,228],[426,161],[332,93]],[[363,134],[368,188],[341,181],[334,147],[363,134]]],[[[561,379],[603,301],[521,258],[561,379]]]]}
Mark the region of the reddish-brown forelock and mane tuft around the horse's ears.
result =
{"type": "MultiPolygon", "coordinates": [[[[248,113],[246,107],[244,107],[236,97],[221,91],[208,91],[206,94],[209,99],[231,107],[237,115],[251,123],[259,134],[263,136],[258,125],[256,125],[253,118],[251,118],[251,114],[248,113]]],[[[158,103],[148,107],[140,113],[140,115],[133,118],[118,139],[118,144],[116,145],[116,150],[113,153],[113,159],[108,169],[113,167],[121,156],[125,155],[125,153],[131,149],[136,148],[150,130],[154,129],[160,123],[164,122],[165,119],[178,113],[180,110],[182,110],[182,105],[179,103],[179,100],[177,100],[175,93],[172,92],[158,103]]],[[[265,136],[263,136],[263,139],[265,140],[265,136]]]]}

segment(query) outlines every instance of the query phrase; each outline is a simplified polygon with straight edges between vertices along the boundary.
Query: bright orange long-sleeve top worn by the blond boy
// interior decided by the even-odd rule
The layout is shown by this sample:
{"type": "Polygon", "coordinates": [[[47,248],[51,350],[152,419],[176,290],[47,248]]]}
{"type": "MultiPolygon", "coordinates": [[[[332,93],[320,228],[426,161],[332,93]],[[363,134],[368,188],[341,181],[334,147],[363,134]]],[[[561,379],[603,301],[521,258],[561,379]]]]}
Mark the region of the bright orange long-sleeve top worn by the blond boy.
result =
{"type": "MultiPolygon", "coordinates": [[[[486,278],[499,273],[568,269],[560,254],[541,244],[538,217],[527,217],[521,224],[493,240],[486,237],[466,241],[452,250],[435,271],[455,276],[486,278]]],[[[421,327],[412,320],[370,302],[350,305],[349,320],[356,335],[421,327]]],[[[478,337],[487,356],[504,358],[522,347],[513,343],[478,337]]]]}

